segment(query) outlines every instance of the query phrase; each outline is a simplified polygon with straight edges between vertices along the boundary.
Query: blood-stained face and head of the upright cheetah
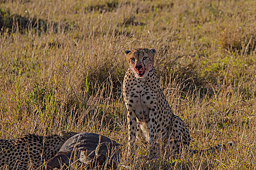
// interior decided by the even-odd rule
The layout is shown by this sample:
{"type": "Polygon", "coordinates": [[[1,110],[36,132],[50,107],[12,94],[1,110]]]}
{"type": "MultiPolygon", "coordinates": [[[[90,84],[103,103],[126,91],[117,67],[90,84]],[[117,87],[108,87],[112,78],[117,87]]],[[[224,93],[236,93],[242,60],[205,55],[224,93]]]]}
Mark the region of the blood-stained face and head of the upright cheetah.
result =
{"type": "Polygon", "coordinates": [[[134,49],[125,51],[129,67],[138,78],[145,78],[154,65],[155,49],[134,49]]]}

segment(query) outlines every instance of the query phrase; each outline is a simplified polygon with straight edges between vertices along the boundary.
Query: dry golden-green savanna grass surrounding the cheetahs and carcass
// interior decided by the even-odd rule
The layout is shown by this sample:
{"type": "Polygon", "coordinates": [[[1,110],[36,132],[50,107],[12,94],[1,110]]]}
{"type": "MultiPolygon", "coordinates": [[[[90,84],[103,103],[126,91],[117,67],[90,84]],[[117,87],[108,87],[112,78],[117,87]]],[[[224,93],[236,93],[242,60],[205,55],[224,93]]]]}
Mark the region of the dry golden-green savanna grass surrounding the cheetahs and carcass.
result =
{"type": "Polygon", "coordinates": [[[0,138],[95,132],[123,144],[120,170],[256,169],[255,0],[1,0],[0,27],[0,138]],[[150,162],[138,142],[130,161],[121,85],[136,47],[157,50],[190,149],[232,149],[150,162]]]}

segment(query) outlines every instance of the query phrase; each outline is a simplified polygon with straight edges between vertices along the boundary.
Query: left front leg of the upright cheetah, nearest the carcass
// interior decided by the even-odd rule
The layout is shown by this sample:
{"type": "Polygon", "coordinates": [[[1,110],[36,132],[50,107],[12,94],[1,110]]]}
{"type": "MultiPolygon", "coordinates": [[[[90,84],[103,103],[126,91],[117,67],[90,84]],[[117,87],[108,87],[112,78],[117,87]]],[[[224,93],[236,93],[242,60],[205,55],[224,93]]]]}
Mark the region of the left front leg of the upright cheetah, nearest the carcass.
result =
{"type": "Polygon", "coordinates": [[[136,116],[135,112],[129,112],[127,115],[127,120],[128,120],[128,130],[129,130],[129,152],[131,156],[135,154],[134,146],[136,142],[136,134],[137,134],[137,121],[136,121],[136,116]]]}

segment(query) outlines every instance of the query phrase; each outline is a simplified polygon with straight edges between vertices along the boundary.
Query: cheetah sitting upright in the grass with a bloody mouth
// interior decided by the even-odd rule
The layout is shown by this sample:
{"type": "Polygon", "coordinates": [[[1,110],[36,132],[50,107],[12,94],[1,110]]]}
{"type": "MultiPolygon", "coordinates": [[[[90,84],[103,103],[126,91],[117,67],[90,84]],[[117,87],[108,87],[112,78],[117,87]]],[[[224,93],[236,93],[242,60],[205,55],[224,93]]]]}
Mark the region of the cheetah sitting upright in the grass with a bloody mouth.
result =
{"type": "Polygon", "coordinates": [[[130,149],[133,148],[137,133],[143,133],[149,148],[149,158],[156,158],[157,140],[171,148],[173,155],[190,144],[189,131],[182,119],[176,116],[168,104],[158,75],[153,66],[155,49],[125,51],[129,64],[123,81],[123,96],[127,108],[130,149]]]}

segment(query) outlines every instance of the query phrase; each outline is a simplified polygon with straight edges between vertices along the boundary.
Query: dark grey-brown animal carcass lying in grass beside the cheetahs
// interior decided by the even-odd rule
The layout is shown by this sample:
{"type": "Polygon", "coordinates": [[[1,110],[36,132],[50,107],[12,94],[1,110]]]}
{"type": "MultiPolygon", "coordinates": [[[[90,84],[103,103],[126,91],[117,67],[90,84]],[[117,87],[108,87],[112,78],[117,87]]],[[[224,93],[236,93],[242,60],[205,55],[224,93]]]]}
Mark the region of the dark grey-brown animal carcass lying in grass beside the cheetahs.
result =
{"type": "Polygon", "coordinates": [[[87,169],[107,166],[116,170],[121,157],[120,144],[102,135],[80,133],[70,137],[59,152],[37,170],[52,170],[74,161],[83,163],[87,169]]]}

